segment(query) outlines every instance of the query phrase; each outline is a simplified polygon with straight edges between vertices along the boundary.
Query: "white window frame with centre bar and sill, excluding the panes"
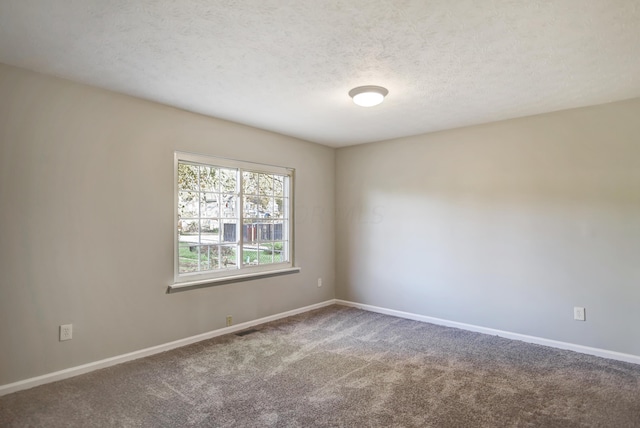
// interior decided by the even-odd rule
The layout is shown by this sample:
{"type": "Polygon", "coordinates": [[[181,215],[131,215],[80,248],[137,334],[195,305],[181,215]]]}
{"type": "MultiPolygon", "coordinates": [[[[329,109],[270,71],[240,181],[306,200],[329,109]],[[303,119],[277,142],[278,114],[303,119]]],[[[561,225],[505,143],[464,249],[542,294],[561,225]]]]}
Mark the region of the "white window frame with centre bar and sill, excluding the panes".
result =
{"type": "Polygon", "coordinates": [[[289,273],[299,272],[300,269],[294,267],[294,173],[293,168],[286,168],[273,165],[265,165],[253,162],[238,161],[233,159],[225,159],[214,156],[200,155],[186,152],[174,152],[174,222],[173,222],[173,235],[174,235],[174,282],[169,285],[168,292],[183,291],[192,288],[201,288],[211,285],[224,284],[237,281],[245,281],[250,279],[257,279],[263,277],[269,277],[274,275],[284,275],[289,273]],[[179,213],[178,213],[178,164],[180,162],[198,164],[210,167],[221,167],[235,169],[237,173],[237,195],[236,201],[236,242],[233,245],[236,246],[236,268],[224,269],[224,270],[212,270],[205,272],[191,272],[180,273],[180,236],[178,232],[179,213]],[[243,249],[244,249],[244,233],[243,224],[245,220],[244,207],[243,207],[243,186],[242,186],[242,172],[257,172],[265,174],[278,174],[288,177],[286,180],[288,185],[284,186],[284,197],[288,204],[284,206],[284,222],[288,227],[283,226],[283,241],[288,243],[287,248],[283,248],[283,251],[287,255],[287,261],[281,263],[271,263],[262,265],[246,265],[243,261],[243,249]],[[286,238],[286,239],[285,239],[286,238]]]}

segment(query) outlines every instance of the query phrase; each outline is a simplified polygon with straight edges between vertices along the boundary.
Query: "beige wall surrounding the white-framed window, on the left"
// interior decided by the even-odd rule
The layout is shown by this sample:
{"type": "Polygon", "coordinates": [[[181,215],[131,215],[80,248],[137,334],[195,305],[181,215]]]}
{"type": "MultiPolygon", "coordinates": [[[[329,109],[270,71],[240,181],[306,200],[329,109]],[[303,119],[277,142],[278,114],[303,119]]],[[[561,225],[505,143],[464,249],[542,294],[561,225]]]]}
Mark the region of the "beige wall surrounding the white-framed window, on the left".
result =
{"type": "Polygon", "coordinates": [[[334,297],[331,148],[4,65],[0,144],[0,385],[334,297]],[[174,150],[296,168],[302,272],[165,294],[174,150]]]}

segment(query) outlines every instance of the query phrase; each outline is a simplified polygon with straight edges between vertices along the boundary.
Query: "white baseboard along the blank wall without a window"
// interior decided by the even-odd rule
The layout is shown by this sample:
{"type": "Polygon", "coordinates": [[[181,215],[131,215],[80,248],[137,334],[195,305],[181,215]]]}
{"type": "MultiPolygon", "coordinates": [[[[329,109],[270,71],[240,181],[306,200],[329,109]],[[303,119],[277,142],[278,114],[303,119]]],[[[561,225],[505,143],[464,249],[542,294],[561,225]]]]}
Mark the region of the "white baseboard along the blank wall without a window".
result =
{"type": "Polygon", "coordinates": [[[413,314],[410,312],[396,311],[394,309],[386,309],[378,306],[365,305],[362,303],[350,302],[347,300],[336,299],[335,303],[343,306],[351,306],[365,311],[377,312],[394,317],[406,318],[414,321],[428,322],[431,324],[443,325],[446,327],[455,327],[462,330],[475,331],[477,333],[490,334],[500,336],[506,339],[520,340],[527,343],[535,343],[537,345],[550,346],[552,348],[566,349],[569,351],[580,352],[582,354],[595,355],[596,357],[609,358],[611,360],[625,361],[627,363],[640,364],[640,356],[632,354],[624,354],[622,352],[609,351],[607,349],[592,348],[589,346],[576,345],[573,343],[560,342],[557,340],[544,339],[542,337],[527,336],[526,334],[512,333],[510,331],[496,330],[488,327],[481,327],[473,324],[465,324],[456,321],[449,321],[441,318],[428,317],[425,315],[413,314]]]}

